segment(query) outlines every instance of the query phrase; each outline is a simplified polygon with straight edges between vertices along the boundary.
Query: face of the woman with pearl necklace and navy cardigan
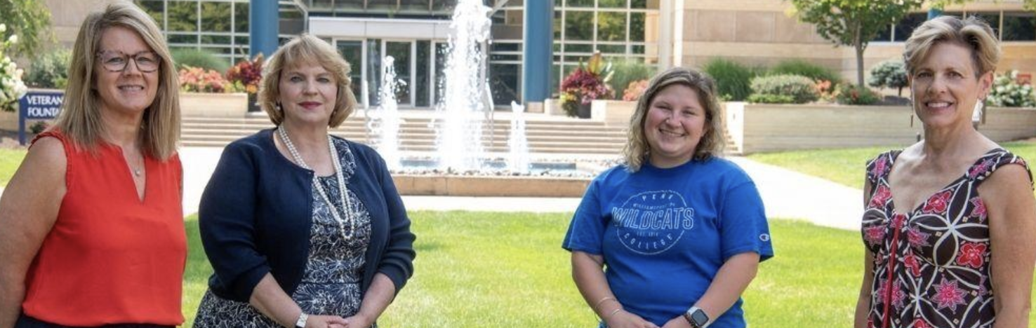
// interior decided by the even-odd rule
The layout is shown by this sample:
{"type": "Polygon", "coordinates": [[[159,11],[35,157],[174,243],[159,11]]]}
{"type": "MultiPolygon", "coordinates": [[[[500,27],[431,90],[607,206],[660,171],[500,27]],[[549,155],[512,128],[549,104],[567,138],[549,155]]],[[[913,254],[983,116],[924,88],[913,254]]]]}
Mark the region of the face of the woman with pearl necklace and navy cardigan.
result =
{"type": "Polygon", "coordinates": [[[285,67],[279,88],[285,122],[327,126],[338,99],[338,83],[327,69],[318,64],[285,67]]]}

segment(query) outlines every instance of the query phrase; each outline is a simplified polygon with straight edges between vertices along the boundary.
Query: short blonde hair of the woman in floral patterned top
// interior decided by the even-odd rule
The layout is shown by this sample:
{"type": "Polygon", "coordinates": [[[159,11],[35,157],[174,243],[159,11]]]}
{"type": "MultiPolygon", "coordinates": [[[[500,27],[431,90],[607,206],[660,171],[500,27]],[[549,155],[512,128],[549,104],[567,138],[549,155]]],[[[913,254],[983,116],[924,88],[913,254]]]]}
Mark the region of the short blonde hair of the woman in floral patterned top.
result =
{"type": "Polygon", "coordinates": [[[914,76],[931,49],[941,42],[957,43],[971,50],[975,78],[996,70],[1000,62],[1000,44],[988,24],[977,17],[961,20],[942,16],[921,24],[906,39],[903,49],[906,71],[914,76]]]}

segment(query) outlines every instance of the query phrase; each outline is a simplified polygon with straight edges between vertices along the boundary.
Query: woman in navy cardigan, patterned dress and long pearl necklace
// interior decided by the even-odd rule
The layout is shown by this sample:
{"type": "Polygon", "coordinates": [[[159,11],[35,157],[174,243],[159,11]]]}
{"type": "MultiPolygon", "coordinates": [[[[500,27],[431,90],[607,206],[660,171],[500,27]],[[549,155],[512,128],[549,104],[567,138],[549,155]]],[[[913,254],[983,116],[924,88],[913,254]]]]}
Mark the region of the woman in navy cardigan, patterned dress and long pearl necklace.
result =
{"type": "Polygon", "coordinates": [[[215,272],[195,327],[370,327],[412,275],[384,160],[327,131],[355,106],[348,71],[310,35],[267,62],[259,99],[278,127],[227,146],[202,196],[215,272]]]}

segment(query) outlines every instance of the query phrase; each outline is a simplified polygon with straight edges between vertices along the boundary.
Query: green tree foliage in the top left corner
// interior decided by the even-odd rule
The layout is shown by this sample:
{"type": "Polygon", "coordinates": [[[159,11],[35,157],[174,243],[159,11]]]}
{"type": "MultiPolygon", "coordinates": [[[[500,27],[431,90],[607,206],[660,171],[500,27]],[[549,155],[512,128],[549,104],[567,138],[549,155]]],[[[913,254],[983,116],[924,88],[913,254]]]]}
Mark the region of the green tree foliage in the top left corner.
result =
{"type": "Polygon", "coordinates": [[[40,0],[0,0],[0,23],[10,27],[6,33],[0,33],[0,39],[18,35],[12,49],[18,55],[32,55],[45,41],[53,39],[51,11],[40,0]]]}

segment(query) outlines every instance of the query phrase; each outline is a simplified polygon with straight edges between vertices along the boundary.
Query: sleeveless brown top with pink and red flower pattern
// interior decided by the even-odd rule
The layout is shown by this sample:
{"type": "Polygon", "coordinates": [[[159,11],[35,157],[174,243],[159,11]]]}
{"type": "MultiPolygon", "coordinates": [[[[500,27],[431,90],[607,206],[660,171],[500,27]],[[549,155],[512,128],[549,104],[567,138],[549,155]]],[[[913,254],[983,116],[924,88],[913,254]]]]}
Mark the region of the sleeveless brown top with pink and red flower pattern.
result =
{"type": "Polygon", "coordinates": [[[992,327],[989,225],[978,186],[1003,166],[1028,165],[992,149],[920,206],[896,213],[888,177],[900,152],[867,163],[861,233],[874,255],[867,327],[992,327]]]}

